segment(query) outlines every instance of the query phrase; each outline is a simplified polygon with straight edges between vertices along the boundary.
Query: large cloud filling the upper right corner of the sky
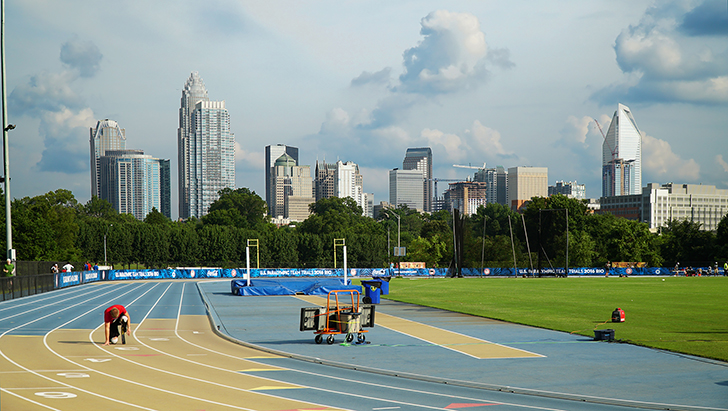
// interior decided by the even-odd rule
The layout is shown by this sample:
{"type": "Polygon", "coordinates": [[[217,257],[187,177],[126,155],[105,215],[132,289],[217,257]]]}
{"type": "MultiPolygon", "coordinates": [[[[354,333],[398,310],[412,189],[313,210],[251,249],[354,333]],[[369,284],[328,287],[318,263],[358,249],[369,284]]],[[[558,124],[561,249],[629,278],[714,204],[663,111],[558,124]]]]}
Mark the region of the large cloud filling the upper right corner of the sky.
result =
{"type": "MultiPolygon", "coordinates": [[[[628,78],[598,90],[592,98],[603,104],[618,100],[728,104],[726,42],[696,38],[688,28],[707,18],[706,10],[714,7],[708,3],[688,8],[683,2],[666,2],[648,9],[639,24],[622,30],[614,51],[628,78]]],[[[720,31],[706,28],[701,33],[720,31]]]]}

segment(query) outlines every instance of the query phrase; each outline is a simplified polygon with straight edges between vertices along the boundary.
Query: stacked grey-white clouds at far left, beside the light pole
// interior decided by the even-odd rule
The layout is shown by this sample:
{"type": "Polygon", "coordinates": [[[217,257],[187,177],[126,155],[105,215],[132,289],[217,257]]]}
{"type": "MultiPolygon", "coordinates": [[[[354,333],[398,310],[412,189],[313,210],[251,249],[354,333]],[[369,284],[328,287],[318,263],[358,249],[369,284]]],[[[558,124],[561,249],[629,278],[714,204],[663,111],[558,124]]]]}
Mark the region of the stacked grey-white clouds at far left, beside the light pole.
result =
{"type": "Polygon", "coordinates": [[[10,93],[8,107],[18,116],[38,119],[43,139],[41,171],[76,174],[88,171],[88,130],[96,118],[72,85],[99,69],[101,53],[93,43],[71,40],[61,47],[68,70],[31,76],[10,93]]]}

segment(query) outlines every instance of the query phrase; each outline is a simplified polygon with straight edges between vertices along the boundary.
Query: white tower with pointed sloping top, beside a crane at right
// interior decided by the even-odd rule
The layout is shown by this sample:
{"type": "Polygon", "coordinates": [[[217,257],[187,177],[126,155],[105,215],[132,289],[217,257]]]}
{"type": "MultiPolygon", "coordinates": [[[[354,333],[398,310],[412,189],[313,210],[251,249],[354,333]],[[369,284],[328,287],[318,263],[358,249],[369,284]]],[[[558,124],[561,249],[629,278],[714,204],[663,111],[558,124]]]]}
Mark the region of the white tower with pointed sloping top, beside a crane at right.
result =
{"type": "Polygon", "coordinates": [[[642,193],[642,133],[620,104],[602,144],[602,197],[642,193]]]}

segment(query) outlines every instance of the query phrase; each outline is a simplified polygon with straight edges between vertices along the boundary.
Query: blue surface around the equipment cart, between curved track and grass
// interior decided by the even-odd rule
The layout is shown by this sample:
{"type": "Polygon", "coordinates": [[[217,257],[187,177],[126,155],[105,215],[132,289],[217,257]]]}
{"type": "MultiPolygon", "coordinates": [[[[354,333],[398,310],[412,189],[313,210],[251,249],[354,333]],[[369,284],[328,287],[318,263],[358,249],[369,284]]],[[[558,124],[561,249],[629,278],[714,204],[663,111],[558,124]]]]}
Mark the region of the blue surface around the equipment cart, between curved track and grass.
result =
{"type": "Polygon", "coordinates": [[[554,393],[557,397],[599,397],[657,408],[657,404],[667,404],[666,409],[670,405],[728,408],[728,364],[720,361],[596,342],[583,336],[387,300],[382,300],[377,312],[545,357],[473,359],[383,327],[370,330],[370,344],[340,345],[343,336],[338,336],[337,344],[317,345],[313,333],[298,330],[300,308],[310,307],[310,303],[291,296],[234,296],[227,281],[204,282],[199,287],[222,333],[302,358],[466,386],[554,393]]]}

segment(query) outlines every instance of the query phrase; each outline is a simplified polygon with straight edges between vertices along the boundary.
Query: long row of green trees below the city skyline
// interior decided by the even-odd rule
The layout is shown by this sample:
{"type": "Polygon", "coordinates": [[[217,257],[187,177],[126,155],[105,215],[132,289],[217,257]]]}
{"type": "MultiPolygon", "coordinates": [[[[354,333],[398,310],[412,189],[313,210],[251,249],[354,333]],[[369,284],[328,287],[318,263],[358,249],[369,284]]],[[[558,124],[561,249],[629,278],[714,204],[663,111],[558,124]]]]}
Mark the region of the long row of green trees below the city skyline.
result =
{"type": "MultiPolygon", "coordinates": [[[[252,266],[341,267],[344,239],[349,267],[387,267],[393,247],[406,247],[402,261],[448,267],[453,256],[453,216],[401,206],[375,220],[362,216],[351,198],[311,205],[312,215],[276,227],[263,199],[247,188],[225,189],[201,219],[171,221],[153,209],[143,221],[119,214],[93,197],[80,204],[68,190],[12,201],[13,246],[20,261],[91,261],[99,265],[243,267],[248,240],[252,266]],[[336,253],[336,254],[335,254],[336,253]]],[[[716,231],[692,221],[669,221],[658,233],[644,223],[593,214],[584,201],[556,195],[534,197],[522,214],[499,204],[481,206],[464,218],[463,267],[604,266],[609,261],[649,266],[708,265],[728,257],[728,216],[716,231]],[[568,210],[568,211],[567,211],[568,210]],[[568,216],[568,221],[567,221],[568,216]],[[568,224],[568,236],[567,236],[568,224]]],[[[4,216],[0,224],[5,228],[4,216]]]]}

